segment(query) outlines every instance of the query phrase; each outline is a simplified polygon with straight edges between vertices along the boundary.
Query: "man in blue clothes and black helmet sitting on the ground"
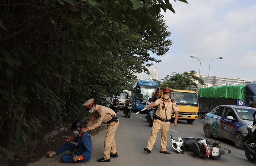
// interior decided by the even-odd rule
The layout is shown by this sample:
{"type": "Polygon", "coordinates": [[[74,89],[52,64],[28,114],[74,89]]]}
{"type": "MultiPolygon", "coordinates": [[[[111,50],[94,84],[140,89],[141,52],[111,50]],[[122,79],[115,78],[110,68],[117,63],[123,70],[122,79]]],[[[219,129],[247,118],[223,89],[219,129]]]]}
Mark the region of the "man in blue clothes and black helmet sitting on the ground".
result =
{"type": "Polygon", "coordinates": [[[52,157],[55,154],[60,154],[65,151],[70,151],[71,155],[62,155],[62,163],[84,163],[87,160],[91,160],[91,134],[89,131],[82,133],[83,123],[81,120],[75,120],[70,130],[74,130],[75,134],[78,134],[77,137],[66,138],[66,141],[77,142],[77,145],[67,142],[59,147],[56,151],[47,152],[44,151],[48,158],[52,157]]]}

